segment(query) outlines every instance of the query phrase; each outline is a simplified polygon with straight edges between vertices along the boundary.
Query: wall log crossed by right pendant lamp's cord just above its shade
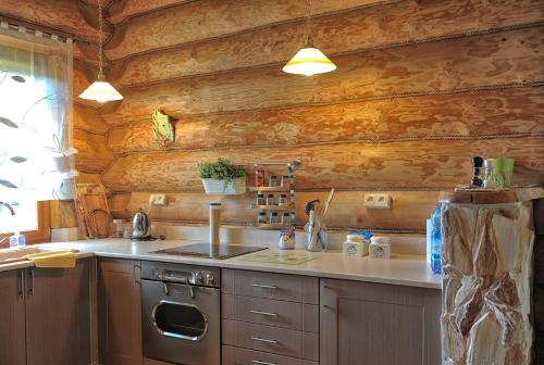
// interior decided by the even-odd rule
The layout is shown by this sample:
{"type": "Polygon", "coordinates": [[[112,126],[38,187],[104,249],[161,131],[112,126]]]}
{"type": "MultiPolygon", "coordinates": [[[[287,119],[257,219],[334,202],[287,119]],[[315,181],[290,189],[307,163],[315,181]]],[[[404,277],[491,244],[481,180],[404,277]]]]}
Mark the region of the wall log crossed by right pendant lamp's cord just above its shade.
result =
{"type": "MultiPolygon", "coordinates": [[[[360,9],[319,17],[313,22],[313,38],[316,45],[334,59],[342,52],[542,21],[542,14],[536,11],[541,4],[535,0],[491,8],[486,0],[471,0],[460,11],[452,12],[456,4],[457,0],[409,1],[405,5],[360,9]]],[[[159,41],[170,30],[165,28],[156,33],[154,37],[159,41]]],[[[120,86],[129,86],[285,63],[304,43],[306,33],[306,24],[300,21],[183,47],[169,47],[112,63],[108,77],[119,79],[120,86]]]]}

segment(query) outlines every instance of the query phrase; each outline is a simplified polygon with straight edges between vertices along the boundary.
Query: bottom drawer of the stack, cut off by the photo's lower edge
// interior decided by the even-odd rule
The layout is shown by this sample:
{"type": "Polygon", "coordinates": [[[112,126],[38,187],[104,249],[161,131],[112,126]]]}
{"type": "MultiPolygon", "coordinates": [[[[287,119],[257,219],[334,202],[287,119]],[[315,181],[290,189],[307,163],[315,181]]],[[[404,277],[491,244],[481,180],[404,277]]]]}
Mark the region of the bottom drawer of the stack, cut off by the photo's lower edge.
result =
{"type": "Polygon", "coordinates": [[[308,360],[274,355],[228,345],[222,347],[222,365],[318,365],[318,363],[308,360]]]}

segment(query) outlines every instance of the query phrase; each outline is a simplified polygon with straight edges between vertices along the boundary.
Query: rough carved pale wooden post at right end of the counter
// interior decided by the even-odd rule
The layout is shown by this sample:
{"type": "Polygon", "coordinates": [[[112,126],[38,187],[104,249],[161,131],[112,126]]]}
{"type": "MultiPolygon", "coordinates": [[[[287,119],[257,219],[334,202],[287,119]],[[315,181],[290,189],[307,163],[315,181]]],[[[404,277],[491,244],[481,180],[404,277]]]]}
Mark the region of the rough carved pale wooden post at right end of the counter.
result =
{"type": "Polygon", "coordinates": [[[530,364],[533,203],[482,197],[443,205],[443,364],[530,364]]]}

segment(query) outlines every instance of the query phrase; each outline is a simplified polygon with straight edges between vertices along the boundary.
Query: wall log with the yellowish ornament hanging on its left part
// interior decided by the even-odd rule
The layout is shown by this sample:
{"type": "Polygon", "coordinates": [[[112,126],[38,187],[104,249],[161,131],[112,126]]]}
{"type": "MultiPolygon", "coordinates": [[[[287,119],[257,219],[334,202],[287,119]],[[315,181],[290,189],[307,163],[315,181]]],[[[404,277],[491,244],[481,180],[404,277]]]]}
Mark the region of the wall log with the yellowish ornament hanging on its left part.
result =
{"type": "MultiPolygon", "coordinates": [[[[169,149],[544,133],[544,87],[203,116],[176,115],[169,149]]],[[[116,153],[159,150],[148,121],[112,127],[116,153]]]]}

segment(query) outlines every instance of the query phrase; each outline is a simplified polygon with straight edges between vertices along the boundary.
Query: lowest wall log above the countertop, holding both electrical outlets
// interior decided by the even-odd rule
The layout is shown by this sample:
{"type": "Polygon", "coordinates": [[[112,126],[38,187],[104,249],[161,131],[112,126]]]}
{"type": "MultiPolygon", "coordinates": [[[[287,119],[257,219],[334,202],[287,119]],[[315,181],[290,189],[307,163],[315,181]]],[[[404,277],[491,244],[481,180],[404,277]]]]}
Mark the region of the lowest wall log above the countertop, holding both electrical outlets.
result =
{"type": "MultiPolygon", "coordinates": [[[[372,191],[378,192],[378,191],[372,191]]],[[[374,228],[399,230],[425,230],[425,219],[436,203],[437,191],[380,191],[392,196],[390,210],[363,207],[366,191],[337,191],[331,203],[325,223],[329,227],[374,228]]],[[[148,212],[152,221],[202,223],[208,221],[208,203],[222,203],[223,224],[255,223],[257,211],[249,209],[255,193],[245,196],[207,196],[205,193],[168,193],[166,206],[149,207],[150,192],[114,194],[109,202],[111,213],[129,219],[140,209],[148,212]]],[[[304,212],[306,202],[319,199],[324,202],[329,192],[297,192],[295,207],[297,224],[304,225],[308,217],[304,212]]]]}

